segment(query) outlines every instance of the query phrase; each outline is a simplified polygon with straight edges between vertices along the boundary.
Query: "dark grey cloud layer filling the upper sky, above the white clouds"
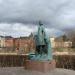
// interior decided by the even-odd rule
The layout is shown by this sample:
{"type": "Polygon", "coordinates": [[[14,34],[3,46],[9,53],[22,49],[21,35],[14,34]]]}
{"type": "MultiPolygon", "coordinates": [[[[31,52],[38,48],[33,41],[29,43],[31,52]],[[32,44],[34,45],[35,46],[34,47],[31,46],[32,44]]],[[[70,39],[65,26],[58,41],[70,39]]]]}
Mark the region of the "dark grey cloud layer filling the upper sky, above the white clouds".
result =
{"type": "Polygon", "coordinates": [[[66,31],[75,28],[74,0],[0,0],[0,23],[37,25],[41,20],[47,28],[66,31]]]}

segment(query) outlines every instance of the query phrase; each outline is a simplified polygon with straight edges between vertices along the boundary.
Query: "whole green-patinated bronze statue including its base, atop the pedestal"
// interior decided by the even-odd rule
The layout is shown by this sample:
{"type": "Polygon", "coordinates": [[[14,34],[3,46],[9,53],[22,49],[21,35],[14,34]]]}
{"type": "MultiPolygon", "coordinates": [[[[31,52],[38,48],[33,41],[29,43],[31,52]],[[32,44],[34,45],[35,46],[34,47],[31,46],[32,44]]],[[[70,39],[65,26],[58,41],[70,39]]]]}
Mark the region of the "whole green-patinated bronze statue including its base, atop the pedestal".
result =
{"type": "Polygon", "coordinates": [[[52,60],[52,49],[49,37],[46,35],[44,25],[39,22],[38,32],[34,36],[35,54],[29,54],[30,60],[52,60]]]}

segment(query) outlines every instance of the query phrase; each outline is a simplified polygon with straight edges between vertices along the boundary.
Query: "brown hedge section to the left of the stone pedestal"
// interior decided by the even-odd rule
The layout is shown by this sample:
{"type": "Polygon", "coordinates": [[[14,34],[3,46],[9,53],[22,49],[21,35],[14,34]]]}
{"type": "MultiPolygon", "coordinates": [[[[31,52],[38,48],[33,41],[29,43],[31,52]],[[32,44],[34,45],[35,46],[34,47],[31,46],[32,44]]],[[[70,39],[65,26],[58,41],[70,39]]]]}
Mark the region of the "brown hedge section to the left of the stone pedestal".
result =
{"type": "Polygon", "coordinates": [[[26,55],[0,55],[0,67],[21,67],[26,59],[26,55]]]}

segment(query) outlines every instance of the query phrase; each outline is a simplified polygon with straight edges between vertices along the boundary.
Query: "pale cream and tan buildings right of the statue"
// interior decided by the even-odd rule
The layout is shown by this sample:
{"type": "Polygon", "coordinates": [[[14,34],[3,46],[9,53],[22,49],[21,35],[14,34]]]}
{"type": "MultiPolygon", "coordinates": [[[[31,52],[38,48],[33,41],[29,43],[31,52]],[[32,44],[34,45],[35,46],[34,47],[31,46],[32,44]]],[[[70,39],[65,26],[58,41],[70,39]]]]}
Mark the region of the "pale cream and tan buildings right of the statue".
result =
{"type": "Polygon", "coordinates": [[[65,40],[63,36],[57,38],[50,38],[52,48],[71,48],[72,42],[65,40]]]}

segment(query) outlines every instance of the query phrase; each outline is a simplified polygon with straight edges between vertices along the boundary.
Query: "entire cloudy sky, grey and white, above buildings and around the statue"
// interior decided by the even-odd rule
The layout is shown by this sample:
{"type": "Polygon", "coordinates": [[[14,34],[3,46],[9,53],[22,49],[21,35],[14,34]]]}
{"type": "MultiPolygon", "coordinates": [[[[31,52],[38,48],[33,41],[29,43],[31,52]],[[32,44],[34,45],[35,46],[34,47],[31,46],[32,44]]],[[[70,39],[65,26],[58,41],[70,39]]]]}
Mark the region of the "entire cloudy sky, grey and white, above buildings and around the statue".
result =
{"type": "Polygon", "coordinates": [[[0,35],[27,36],[41,20],[51,36],[75,29],[75,0],[0,0],[0,35]]]}

